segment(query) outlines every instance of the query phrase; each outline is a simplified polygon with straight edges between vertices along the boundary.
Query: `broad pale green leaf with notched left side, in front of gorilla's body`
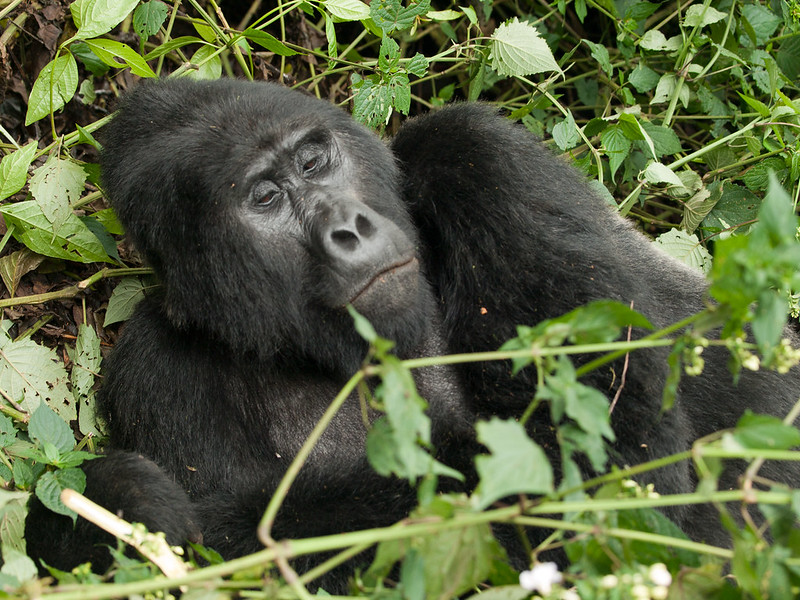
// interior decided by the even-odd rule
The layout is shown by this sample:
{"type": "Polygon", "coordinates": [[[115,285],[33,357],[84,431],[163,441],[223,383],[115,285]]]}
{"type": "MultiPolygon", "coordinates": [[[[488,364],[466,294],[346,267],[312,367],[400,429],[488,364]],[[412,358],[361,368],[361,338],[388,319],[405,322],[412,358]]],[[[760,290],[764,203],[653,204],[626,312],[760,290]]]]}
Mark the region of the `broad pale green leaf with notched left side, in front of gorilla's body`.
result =
{"type": "Polygon", "coordinates": [[[473,503],[483,510],[514,494],[547,494],[553,491],[553,469],[544,450],[516,421],[492,418],[475,426],[478,440],[491,455],[475,457],[480,483],[473,503]]]}

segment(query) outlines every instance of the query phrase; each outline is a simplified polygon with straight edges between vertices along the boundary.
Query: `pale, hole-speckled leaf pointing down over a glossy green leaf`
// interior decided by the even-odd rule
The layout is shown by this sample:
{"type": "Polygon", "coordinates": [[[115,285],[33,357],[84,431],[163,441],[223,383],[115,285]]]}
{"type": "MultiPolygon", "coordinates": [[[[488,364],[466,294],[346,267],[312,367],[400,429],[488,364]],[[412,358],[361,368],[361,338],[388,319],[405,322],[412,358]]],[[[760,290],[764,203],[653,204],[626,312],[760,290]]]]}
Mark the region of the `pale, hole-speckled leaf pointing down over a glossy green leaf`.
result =
{"type": "Polygon", "coordinates": [[[42,213],[58,231],[72,213],[73,202],[81,197],[86,171],[71,160],[56,155],[33,172],[29,189],[42,213]]]}

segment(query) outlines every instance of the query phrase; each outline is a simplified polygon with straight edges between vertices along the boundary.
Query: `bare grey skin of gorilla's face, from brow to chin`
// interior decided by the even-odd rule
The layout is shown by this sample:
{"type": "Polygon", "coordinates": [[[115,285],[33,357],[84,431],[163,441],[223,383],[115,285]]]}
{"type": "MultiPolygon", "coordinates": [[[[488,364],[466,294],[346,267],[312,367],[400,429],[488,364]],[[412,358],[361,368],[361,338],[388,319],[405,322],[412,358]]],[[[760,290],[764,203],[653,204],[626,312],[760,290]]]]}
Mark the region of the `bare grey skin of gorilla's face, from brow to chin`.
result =
{"type": "Polygon", "coordinates": [[[376,196],[362,185],[367,166],[358,168],[326,127],[300,127],[258,146],[237,187],[239,215],[264,251],[298,256],[312,274],[311,296],[325,307],[352,303],[379,320],[410,310],[419,262],[393,220],[403,217],[390,210],[399,204],[393,190],[376,196]]]}

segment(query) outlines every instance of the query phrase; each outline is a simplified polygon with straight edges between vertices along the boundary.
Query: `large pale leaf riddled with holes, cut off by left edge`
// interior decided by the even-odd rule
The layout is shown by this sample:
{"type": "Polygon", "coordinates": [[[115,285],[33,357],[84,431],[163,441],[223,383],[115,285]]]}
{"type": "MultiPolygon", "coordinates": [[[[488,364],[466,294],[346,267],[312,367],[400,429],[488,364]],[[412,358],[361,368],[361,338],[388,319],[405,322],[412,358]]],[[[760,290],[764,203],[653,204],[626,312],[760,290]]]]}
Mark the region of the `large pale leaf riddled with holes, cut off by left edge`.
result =
{"type": "Polygon", "coordinates": [[[0,334],[0,388],[12,401],[33,413],[46,402],[59,416],[75,418],[75,403],[67,388],[64,363],[54,350],[30,338],[12,341],[0,334]]]}

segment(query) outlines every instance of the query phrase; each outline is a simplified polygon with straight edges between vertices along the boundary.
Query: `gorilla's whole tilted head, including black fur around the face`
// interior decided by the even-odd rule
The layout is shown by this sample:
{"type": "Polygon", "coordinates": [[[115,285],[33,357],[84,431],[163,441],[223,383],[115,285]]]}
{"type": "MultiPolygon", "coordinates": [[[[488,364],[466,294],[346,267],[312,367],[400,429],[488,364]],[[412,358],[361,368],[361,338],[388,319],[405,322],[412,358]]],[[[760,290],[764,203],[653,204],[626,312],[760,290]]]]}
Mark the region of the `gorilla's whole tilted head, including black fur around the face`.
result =
{"type": "Polygon", "coordinates": [[[434,300],[394,157],[344,111],[277,85],[146,82],[105,140],[105,191],[176,327],[342,372],[365,350],[348,303],[400,354],[424,339],[434,300]]]}

